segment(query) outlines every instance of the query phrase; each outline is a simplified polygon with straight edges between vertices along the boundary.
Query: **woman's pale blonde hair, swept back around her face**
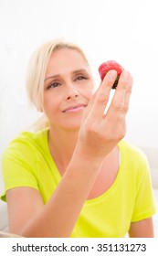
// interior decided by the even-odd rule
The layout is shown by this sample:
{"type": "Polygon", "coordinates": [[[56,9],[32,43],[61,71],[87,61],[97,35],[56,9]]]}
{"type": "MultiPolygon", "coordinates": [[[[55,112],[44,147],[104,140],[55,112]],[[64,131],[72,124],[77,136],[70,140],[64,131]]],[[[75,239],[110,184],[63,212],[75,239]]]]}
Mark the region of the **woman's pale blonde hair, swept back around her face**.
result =
{"type": "MultiPolygon", "coordinates": [[[[36,106],[37,111],[43,110],[43,86],[48,61],[52,53],[61,48],[68,48],[78,51],[89,65],[89,61],[82,49],[79,48],[78,45],[65,40],[52,40],[37,48],[28,63],[26,72],[26,91],[29,100],[36,106]]],[[[36,126],[37,130],[48,127],[49,124],[47,117],[43,115],[40,120],[37,121],[36,126]]]]}

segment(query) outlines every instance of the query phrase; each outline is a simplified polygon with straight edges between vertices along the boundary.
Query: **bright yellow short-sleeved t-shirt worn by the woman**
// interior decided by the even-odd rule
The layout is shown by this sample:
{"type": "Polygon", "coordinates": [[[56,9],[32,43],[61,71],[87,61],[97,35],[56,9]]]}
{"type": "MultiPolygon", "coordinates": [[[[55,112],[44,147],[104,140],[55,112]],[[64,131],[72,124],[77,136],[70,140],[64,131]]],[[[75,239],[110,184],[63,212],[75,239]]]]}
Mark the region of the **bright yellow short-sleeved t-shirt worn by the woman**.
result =
{"type": "MultiPolygon", "coordinates": [[[[146,157],[124,140],[118,146],[121,155],[118,176],[100,197],[84,203],[71,237],[121,238],[131,222],[150,218],[155,213],[146,157]]],[[[49,153],[47,130],[19,134],[5,149],[2,167],[5,191],[33,187],[45,204],[61,179],[49,153]]],[[[1,199],[5,200],[5,192],[1,199]]]]}

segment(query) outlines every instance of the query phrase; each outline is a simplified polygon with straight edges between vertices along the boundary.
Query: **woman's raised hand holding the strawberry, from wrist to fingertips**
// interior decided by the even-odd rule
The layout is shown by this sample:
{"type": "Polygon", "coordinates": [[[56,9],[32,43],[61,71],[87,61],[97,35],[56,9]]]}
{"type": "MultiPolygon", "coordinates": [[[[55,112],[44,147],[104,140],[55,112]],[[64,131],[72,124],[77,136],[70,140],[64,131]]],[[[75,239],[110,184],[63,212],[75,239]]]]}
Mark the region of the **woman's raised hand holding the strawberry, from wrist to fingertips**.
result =
{"type": "Polygon", "coordinates": [[[128,71],[122,71],[117,90],[108,111],[104,113],[116,77],[115,70],[107,73],[83,115],[79,146],[85,156],[90,158],[104,158],[126,133],[126,113],[132,93],[132,76],[128,71]]]}

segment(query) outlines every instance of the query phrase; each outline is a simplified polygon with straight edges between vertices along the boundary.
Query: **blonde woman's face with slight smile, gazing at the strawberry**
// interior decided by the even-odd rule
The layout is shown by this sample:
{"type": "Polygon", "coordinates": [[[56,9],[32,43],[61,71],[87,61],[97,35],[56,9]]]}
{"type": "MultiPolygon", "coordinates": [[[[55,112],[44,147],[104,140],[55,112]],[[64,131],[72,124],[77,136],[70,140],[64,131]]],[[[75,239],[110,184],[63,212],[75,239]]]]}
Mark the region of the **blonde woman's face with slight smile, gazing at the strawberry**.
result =
{"type": "Polygon", "coordinates": [[[94,90],[90,68],[73,49],[58,49],[47,65],[43,111],[50,125],[79,128],[81,117],[94,90]]]}

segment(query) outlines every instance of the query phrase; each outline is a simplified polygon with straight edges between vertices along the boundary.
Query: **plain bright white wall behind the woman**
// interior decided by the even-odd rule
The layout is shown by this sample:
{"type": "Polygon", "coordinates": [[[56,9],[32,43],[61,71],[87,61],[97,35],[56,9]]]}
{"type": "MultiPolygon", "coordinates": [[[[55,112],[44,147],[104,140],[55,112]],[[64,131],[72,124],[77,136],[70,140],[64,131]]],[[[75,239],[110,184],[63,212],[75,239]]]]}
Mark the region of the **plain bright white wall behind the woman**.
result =
{"type": "Polygon", "coordinates": [[[158,147],[157,0],[0,0],[0,155],[37,118],[26,100],[30,55],[64,37],[84,48],[96,70],[115,59],[132,72],[127,139],[158,147]]]}

